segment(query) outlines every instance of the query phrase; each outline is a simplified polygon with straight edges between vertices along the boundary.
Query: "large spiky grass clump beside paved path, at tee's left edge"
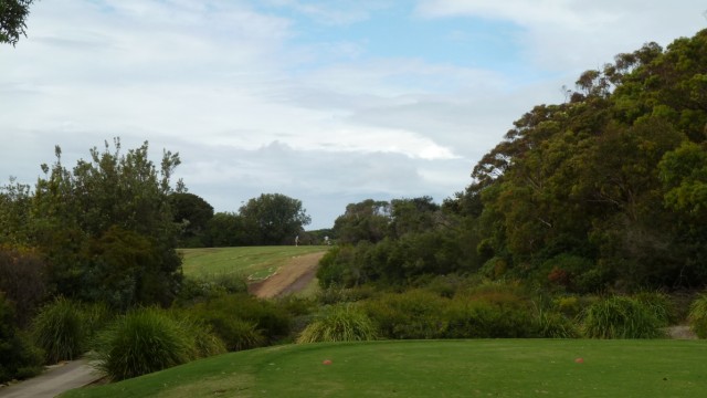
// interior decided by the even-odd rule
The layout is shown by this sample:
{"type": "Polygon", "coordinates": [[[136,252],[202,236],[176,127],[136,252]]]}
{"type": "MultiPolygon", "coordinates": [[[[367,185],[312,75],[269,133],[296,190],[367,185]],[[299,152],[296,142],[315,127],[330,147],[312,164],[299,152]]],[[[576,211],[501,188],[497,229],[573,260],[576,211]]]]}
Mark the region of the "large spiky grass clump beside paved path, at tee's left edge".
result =
{"type": "Polygon", "coordinates": [[[98,370],[123,380],[193,359],[193,336],[165,311],[129,311],[96,336],[98,370]]]}

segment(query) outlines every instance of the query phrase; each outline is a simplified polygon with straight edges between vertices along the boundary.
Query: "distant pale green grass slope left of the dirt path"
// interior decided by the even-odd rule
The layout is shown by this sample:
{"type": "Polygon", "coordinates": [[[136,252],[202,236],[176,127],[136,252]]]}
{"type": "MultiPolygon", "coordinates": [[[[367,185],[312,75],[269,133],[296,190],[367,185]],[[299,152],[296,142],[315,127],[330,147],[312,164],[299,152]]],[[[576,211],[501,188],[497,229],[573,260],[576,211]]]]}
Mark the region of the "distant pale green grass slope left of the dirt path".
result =
{"type": "Polygon", "coordinates": [[[268,277],[287,261],[297,255],[327,251],[329,247],[252,247],[180,249],[182,269],[187,276],[243,274],[249,282],[268,277]]]}

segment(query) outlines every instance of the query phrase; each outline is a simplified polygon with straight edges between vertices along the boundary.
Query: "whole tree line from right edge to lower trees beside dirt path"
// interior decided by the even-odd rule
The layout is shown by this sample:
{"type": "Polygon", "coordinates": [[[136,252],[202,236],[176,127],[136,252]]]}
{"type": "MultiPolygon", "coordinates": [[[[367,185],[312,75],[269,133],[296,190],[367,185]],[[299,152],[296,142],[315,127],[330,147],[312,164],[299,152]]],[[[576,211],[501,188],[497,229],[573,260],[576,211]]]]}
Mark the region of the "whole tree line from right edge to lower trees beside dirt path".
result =
{"type": "Polygon", "coordinates": [[[569,292],[707,283],[707,30],[582,73],[441,206],[351,203],[325,285],[462,273],[569,292]],[[414,214],[414,216],[411,216],[414,214]]]}

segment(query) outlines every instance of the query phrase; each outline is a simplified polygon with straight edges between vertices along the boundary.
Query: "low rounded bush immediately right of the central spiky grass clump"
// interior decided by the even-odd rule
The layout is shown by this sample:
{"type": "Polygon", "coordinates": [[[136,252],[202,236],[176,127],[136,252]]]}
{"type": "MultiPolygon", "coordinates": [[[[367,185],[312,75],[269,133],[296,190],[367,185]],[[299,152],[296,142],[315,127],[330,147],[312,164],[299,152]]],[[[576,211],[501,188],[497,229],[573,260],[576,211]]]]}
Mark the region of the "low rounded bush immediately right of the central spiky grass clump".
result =
{"type": "Polygon", "coordinates": [[[450,300],[430,291],[386,293],[363,302],[363,310],[378,325],[381,337],[412,339],[442,337],[450,300]]]}

